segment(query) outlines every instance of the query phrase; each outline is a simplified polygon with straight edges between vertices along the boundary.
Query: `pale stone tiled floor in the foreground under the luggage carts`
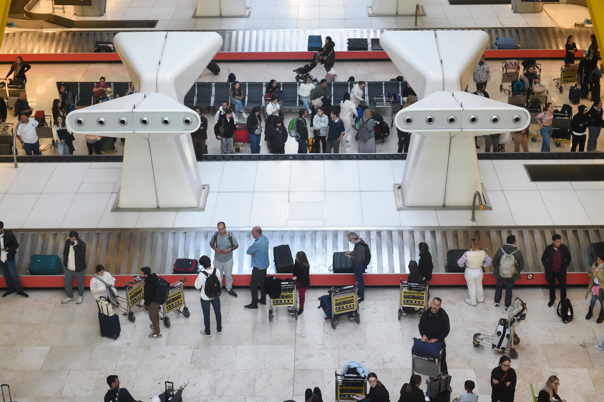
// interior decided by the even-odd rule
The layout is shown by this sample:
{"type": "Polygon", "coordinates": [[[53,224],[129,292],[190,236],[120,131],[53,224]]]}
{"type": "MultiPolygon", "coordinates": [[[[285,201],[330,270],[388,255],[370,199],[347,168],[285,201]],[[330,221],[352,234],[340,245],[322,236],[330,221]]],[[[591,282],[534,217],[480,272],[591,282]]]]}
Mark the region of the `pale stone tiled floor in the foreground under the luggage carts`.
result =
{"type": "MultiPolygon", "coordinates": [[[[62,290],[35,290],[29,299],[18,296],[0,304],[0,378],[11,386],[13,400],[25,402],[97,402],[108,386],[105,378],[120,377],[137,400],[146,401],[164,389],[168,377],[189,380],[183,399],[194,402],[303,401],[304,390],[318,386],[325,401],[333,400],[334,372],[350,360],[376,372],[390,392],[411,375],[411,342],[418,337],[418,317],[397,321],[399,288],[368,288],[360,305],[361,324],[341,319],[336,330],[325,322],[318,296],[326,289],[306,293],[304,313],[294,321],[282,308],[268,322],[266,307],[243,309],[249,290],[236,289],[239,298],[220,298],[223,333],[216,333],[211,317],[211,338],[199,334],[203,317],[195,290],[186,290],[191,316],[170,313],[171,326],[162,326],[161,339],[149,339],[146,311],[135,311],[130,323],[120,316],[117,340],[101,338],[97,307],[88,290],[83,304],[60,304],[62,290]]],[[[466,380],[475,381],[480,401],[490,400],[490,371],[498,353],[472,347],[474,333],[490,334],[506,311],[493,307],[493,288],[485,289],[483,304],[463,302],[461,287],[432,287],[443,299],[451,333],[447,362],[452,375],[451,397],[463,392],[466,380]]],[[[530,400],[545,379],[557,375],[559,395],[568,402],[602,402],[602,352],[593,348],[604,327],[596,317],[583,319],[587,302],[583,287],[570,288],[575,317],[563,324],[547,307],[547,289],[516,288],[514,296],[528,307],[527,319],[517,327],[521,342],[512,360],[518,383],[515,400],[530,400]]],[[[425,388],[425,378],[422,388],[425,388]]]]}

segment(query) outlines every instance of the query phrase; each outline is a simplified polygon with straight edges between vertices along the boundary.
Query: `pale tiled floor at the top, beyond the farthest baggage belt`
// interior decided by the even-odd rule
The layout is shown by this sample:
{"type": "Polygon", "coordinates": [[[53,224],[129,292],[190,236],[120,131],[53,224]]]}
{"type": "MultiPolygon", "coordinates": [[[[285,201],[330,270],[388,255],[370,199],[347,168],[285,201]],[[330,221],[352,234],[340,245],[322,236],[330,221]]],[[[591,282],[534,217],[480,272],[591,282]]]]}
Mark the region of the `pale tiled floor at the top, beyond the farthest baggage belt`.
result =
{"type": "MultiPolygon", "coordinates": [[[[409,0],[411,1],[411,0],[409,0]]],[[[414,1],[416,2],[416,1],[414,1]]],[[[418,18],[420,28],[573,27],[590,18],[586,7],[545,4],[544,12],[516,14],[511,5],[451,5],[448,0],[419,1],[426,12],[418,18]]],[[[248,0],[250,18],[193,19],[197,0],[108,0],[102,17],[77,17],[73,7],[57,15],[72,19],[157,19],[155,29],[314,29],[314,28],[408,28],[409,16],[369,17],[371,0],[248,0]]],[[[50,13],[51,0],[41,0],[34,11],[50,13]]]]}

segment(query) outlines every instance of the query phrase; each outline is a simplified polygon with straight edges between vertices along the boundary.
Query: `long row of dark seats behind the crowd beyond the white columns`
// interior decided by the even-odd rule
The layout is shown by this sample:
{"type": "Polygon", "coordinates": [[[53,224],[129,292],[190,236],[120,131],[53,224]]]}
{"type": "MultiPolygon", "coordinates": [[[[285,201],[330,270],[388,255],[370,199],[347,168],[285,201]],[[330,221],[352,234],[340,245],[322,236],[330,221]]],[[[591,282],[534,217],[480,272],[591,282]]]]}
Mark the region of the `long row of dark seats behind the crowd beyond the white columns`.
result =
{"type": "MultiPolygon", "coordinates": [[[[95,82],[67,82],[69,88],[74,93],[76,98],[76,107],[90,106],[94,100],[92,97],[92,89],[95,82]]],[[[129,82],[107,82],[114,94],[124,95],[130,86],[129,82]]],[[[264,106],[265,105],[265,89],[266,82],[245,82],[241,83],[243,97],[245,102],[244,107],[264,106]]],[[[57,82],[57,91],[59,91],[62,83],[57,82]]],[[[298,85],[295,81],[280,82],[279,88],[283,89],[285,97],[283,98],[283,109],[299,109],[302,106],[300,97],[298,97],[298,85]]],[[[318,85],[318,83],[315,83],[318,85]]],[[[334,105],[338,105],[342,100],[345,92],[349,92],[353,82],[337,81],[327,83],[327,93],[332,99],[334,105]]],[[[231,88],[229,82],[196,82],[195,85],[185,95],[184,104],[186,106],[202,106],[202,107],[220,107],[222,101],[228,101],[228,91],[231,88]]],[[[402,94],[403,87],[399,81],[367,81],[365,86],[365,102],[367,106],[375,105],[375,97],[379,97],[388,93],[402,94]]],[[[399,102],[394,102],[394,106],[402,106],[402,99],[399,102]]]]}

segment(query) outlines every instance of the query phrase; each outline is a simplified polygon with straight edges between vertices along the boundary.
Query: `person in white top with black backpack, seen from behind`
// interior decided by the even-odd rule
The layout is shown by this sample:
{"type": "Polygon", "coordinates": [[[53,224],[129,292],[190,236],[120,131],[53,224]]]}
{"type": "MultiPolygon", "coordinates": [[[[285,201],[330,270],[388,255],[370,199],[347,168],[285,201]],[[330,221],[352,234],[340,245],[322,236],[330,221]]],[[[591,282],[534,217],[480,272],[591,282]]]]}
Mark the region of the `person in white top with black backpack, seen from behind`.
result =
{"type": "Polygon", "coordinates": [[[222,334],[222,315],[220,314],[220,297],[212,296],[213,288],[210,285],[214,285],[219,290],[222,287],[222,274],[216,268],[212,268],[210,264],[210,257],[202,255],[199,258],[199,264],[202,267],[201,272],[195,279],[195,289],[199,289],[199,296],[201,297],[201,309],[204,312],[204,329],[201,330],[203,336],[208,338],[211,336],[210,333],[210,304],[214,308],[214,315],[216,316],[216,331],[222,334]],[[208,286],[208,287],[207,287],[208,286]]]}

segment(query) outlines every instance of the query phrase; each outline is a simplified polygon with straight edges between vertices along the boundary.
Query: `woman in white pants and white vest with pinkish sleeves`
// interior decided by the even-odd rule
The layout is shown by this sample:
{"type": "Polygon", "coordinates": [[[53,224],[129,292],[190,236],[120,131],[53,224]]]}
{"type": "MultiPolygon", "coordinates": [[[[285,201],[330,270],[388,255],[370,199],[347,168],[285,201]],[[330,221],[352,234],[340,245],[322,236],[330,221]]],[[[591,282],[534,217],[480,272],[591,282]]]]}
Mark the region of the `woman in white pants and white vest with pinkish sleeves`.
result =
{"type": "Polygon", "coordinates": [[[488,267],[493,260],[486,254],[480,245],[480,241],[475,238],[470,240],[470,248],[457,261],[460,267],[466,267],[463,276],[467,282],[466,303],[476,305],[476,302],[484,301],[483,294],[483,267],[488,267]]]}

